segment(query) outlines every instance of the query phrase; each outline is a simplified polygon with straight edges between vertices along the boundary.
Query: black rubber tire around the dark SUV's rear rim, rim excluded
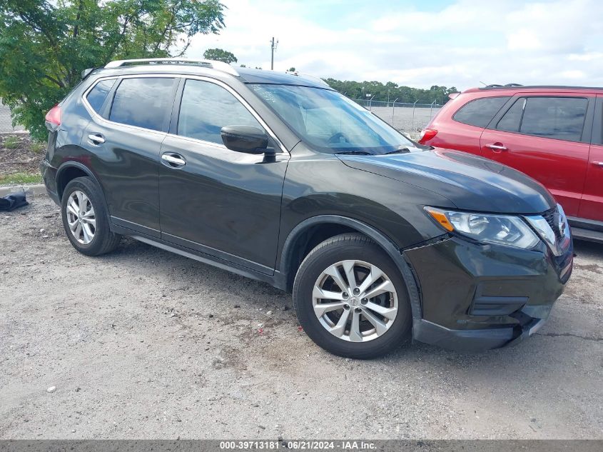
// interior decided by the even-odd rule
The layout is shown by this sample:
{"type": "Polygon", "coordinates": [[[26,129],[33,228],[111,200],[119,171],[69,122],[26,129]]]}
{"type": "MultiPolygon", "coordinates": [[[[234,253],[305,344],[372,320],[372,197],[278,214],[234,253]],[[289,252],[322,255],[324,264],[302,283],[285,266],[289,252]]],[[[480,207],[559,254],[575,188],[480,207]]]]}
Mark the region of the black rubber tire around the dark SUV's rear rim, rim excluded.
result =
{"type": "Polygon", "coordinates": [[[121,240],[121,236],[111,232],[109,228],[109,217],[105,208],[103,192],[89,177],[78,177],[67,184],[63,191],[63,198],[61,199],[61,218],[63,219],[63,227],[71,245],[80,253],[86,254],[86,256],[101,256],[101,254],[110,253],[118,246],[121,240]],[[83,194],[86,194],[94,209],[96,227],[93,231],[92,240],[87,244],[80,243],[74,236],[74,233],[71,232],[71,228],[69,228],[66,209],[69,198],[74,191],[81,191],[83,194]]]}

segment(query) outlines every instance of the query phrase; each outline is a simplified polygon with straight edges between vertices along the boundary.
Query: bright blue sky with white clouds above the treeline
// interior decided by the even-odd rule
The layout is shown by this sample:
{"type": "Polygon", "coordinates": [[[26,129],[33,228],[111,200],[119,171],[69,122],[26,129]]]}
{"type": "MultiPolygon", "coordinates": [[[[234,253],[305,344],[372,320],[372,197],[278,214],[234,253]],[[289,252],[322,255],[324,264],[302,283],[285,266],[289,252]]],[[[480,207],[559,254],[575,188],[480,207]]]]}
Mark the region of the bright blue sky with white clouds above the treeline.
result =
{"type": "MultiPolygon", "coordinates": [[[[467,89],[603,86],[603,1],[223,0],[226,28],[193,36],[238,64],[323,78],[467,89]]],[[[236,64],[235,64],[236,65],[236,64]]]]}

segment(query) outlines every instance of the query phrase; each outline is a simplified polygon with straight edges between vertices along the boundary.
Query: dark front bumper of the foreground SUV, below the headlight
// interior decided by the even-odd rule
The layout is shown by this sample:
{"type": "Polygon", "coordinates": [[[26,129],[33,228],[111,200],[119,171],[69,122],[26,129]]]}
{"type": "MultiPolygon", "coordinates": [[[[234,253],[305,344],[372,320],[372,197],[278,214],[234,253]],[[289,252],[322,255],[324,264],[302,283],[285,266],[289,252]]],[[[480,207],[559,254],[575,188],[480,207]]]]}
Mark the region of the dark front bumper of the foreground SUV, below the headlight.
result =
{"type": "Polygon", "coordinates": [[[404,251],[421,296],[413,338],[460,351],[508,346],[547,321],[572,273],[573,247],[554,256],[452,236],[404,251]]]}

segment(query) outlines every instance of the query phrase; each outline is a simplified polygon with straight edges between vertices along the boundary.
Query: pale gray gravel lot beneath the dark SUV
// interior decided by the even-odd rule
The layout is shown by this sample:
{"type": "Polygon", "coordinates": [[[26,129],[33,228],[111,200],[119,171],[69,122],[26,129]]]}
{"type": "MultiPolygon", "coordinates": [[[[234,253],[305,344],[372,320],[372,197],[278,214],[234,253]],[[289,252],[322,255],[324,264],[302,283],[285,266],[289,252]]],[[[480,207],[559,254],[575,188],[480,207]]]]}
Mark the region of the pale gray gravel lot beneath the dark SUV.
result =
{"type": "Polygon", "coordinates": [[[352,361],[288,294],[132,240],[88,258],[30,201],[0,213],[0,438],[603,438],[601,245],[515,348],[352,361]]]}

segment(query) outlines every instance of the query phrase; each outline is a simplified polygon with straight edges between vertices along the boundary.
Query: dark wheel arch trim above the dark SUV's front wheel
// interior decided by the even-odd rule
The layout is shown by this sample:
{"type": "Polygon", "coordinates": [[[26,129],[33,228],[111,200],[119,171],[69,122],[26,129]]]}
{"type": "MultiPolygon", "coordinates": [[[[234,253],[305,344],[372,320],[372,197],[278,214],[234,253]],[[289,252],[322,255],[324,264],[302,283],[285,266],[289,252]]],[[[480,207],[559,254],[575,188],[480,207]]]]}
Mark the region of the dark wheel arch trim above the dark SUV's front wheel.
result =
{"type": "MultiPolygon", "coordinates": [[[[392,259],[392,261],[400,270],[400,274],[404,279],[408,291],[408,298],[410,301],[410,307],[412,310],[413,318],[421,318],[421,302],[417,281],[413,276],[410,269],[410,264],[407,263],[400,250],[395,246],[395,243],[390,240],[384,233],[377,230],[373,226],[363,223],[356,219],[352,219],[346,216],[340,215],[319,215],[313,216],[309,219],[305,219],[300,224],[295,226],[288,234],[285,242],[283,243],[283,251],[280,253],[280,265],[279,271],[286,277],[286,290],[290,291],[293,287],[293,280],[295,279],[295,273],[300,266],[301,261],[307,255],[310,250],[306,250],[308,244],[313,243],[309,236],[312,237],[313,233],[317,231],[325,231],[330,228],[331,231],[335,232],[327,234],[327,236],[320,235],[322,238],[318,243],[331,236],[338,235],[339,233],[345,232],[358,232],[367,236],[371,240],[375,241],[380,248],[392,259]],[[305,251],[305,252],[304,252],[305,251]]],[[[318,245],[318,243],[316,243],[318,245]]]]}

